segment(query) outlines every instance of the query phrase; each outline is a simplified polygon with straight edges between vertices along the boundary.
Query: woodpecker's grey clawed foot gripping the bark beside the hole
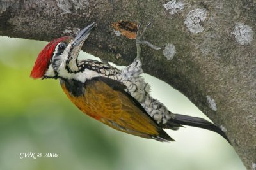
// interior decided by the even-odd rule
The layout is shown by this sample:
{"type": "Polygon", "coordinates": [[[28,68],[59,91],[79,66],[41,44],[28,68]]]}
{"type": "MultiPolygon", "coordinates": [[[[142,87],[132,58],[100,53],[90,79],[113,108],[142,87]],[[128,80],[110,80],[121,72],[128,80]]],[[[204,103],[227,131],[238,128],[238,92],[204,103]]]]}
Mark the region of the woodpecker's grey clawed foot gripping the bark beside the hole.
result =
{"type": "Polygon", "coordinates": [[[137,48],[137,57],[136,59],[141,60],[140,57],[140,53],[141,53],[141,44],[145,44],[147,46],[149,46],[150,48],[153,48],[154,50],[160,50],[161,47],[157,47],[155,45],[152,45],[152,43],[145,41],[145,40],[141,40],[141,38],[143,38],[143,35],[145,34],[146,30],[148,29],[148,27],[151,25],[152,20],[150,22],[148,22],[148,24],[146,25],[146,27],[143,29],[143,31],[141,31],[141,24],[138,25],[138,31],[137,31],[137,36],[136,36],[136,48],[137,48]]]}

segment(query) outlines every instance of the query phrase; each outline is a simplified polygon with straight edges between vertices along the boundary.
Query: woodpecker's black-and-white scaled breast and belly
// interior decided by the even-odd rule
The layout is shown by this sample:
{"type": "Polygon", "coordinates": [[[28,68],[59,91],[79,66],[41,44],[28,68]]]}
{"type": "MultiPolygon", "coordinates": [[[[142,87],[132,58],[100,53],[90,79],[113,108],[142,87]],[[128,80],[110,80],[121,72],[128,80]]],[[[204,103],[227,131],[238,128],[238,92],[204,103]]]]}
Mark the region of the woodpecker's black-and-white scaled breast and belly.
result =
{"type": "Polygon", "coordinates": [[[141,77],[143,70],[139,59],[135,59],[132,64],[122,71],[96,60],[82,60],[79,62],[79,67],[82,70],[95,71],[97,76],[122,82],[127,87],[125,90],[143,106],[148,115],[154,118],[158,124],[165,124],[170,118],[173,118],[173,114],[168,111],[163,103],[150,96],[150,85],[141,77]]]}

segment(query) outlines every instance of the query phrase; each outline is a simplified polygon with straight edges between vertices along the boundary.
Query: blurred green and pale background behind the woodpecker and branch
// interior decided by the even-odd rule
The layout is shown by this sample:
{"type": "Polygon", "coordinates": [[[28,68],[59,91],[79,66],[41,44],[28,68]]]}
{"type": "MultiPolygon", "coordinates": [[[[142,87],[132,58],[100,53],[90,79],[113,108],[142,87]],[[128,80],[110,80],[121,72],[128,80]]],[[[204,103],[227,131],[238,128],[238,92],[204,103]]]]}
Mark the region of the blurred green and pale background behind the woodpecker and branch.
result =
{"type": "MultiPolygon", "coordinates": [[[[46,42],[0,36],[0,169],[245,169],[218,134],[193,127],[167,130],[160,143],[131,136],[84,115],[68,101],[58,80],[29,78],[46,42]],[[22,152],[57,158],[20,159],[22,152]]],[[[92,58],[81,52],[81,58],[92,58]]],[[[163,81],[147,74],[152,96],[174,113],[204,117],[163,81]]]]}

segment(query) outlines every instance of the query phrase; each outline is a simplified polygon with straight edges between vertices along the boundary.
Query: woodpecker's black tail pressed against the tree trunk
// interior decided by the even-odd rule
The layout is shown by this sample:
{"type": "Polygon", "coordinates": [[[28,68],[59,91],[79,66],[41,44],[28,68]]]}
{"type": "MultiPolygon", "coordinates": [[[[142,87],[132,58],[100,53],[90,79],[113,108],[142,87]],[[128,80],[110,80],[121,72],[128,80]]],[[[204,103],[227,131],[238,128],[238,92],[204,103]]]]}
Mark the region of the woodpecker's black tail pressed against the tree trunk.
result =
{"type": "Polygon", "coordinates": [[[175,126],[177,127],[177,124],[179,126],[189,125],[189,126],[193,126],[193,127],[200,127],[203,129],[208,129],[210,131],[214,131],[214,132],[220,134],[221,136],[223,136],[223,138],[225,138],[228,141],[228,143],[230,143],[226,134],[223,131],[221,131],[220,127],[212,124],[211,122],[205,120],[204,118],[175,114],[175,118],[168,120],[167,125],[164,124],[164,127],[169,128],[169,129],[175,129],[175,126]]]}

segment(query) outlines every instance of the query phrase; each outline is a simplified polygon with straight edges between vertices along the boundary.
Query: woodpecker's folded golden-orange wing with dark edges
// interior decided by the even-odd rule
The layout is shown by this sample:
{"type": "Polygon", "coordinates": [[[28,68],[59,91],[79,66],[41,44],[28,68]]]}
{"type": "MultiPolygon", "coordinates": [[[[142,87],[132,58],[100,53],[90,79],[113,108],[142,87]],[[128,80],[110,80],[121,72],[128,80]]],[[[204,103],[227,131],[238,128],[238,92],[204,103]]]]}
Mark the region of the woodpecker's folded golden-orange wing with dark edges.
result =
{"type": "Polygon", "coordinates": [[[90,117],[129,134],[159,141],[173,141],[141,104],[124,91],[126,86],[119,81],[104,77],[86,80],[83,86],[80,85],[83,89],[77,89],[79,85],[73,89],[79,95],[70,92],[70,85],[74,86],[74,82],[68,81],[70,80],[61,82],[64,92],[72,103],[90,117]]]}

